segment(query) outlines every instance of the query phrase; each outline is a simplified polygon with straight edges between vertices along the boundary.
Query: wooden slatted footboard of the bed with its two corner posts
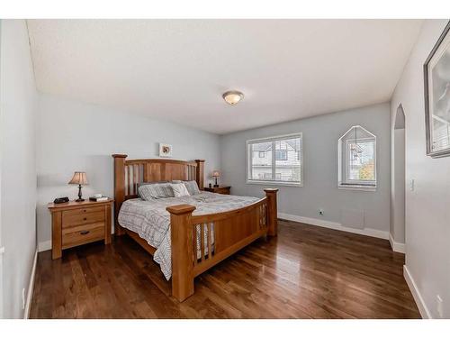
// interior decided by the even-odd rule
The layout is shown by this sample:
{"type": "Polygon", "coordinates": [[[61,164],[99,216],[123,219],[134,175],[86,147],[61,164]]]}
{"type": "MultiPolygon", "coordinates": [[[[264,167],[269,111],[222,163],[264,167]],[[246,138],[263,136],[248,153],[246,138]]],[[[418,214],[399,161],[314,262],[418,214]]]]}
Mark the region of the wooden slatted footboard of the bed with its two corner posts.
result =
{"type": "Polygon", "coordinates": [[[277,231],[276,192],[237,210],[193,215],[195,206],[169,206],[172,235],[172,296],[193,295],[193,279],[263,235],[277,231]]]}

